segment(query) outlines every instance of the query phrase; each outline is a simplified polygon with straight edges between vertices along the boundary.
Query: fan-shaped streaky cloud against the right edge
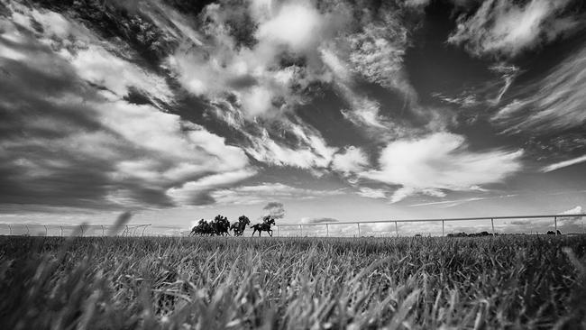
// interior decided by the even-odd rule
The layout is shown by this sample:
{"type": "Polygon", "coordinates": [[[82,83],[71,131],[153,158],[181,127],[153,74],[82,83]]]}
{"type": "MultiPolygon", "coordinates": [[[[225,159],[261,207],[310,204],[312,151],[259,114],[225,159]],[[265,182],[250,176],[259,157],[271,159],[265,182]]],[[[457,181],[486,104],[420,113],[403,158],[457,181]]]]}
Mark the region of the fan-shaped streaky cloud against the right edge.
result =
{"type": "Polygon", "coordinates": [[[586,47],[563,60],[545,78],[521,88],[492,115],[504,133],[559,132],[586,123],[586,47]]]}

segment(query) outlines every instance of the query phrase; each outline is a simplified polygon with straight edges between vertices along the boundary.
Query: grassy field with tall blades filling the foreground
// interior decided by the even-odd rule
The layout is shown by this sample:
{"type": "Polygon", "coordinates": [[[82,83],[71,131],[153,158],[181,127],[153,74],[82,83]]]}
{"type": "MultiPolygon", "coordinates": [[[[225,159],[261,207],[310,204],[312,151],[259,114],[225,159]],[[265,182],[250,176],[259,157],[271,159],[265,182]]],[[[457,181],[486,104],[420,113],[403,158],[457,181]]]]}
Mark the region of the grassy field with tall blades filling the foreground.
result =
{"type": "Polygon", "coordinates": [[[585,236],[4,236],[0,325],[586,328],[585,255],[585,236]]]}

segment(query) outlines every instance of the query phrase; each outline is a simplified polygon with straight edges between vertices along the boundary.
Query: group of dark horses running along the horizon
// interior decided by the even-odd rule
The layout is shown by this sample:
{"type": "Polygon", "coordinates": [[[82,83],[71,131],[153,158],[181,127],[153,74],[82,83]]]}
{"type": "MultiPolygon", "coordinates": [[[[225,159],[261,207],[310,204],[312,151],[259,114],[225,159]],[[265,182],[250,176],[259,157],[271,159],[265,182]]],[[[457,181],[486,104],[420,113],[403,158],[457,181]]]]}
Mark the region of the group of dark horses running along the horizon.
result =
{"type": "MultiPolygon", "coordinates": [[[[250,224],[251,220],[246,215],[241,215],[238,218],[238,222],[235,222],[232,225],[230,225],[230,221],[228,221],[227,217],[216,215],[214,220],[210,222],[207,222],[204,219],[199,220],[197,225],[191,229],[190,235],[227,236],[230,235],[230,231],[232,231],[234,236],[242,236],[246,226],[250,224]]],[[[259,236],[261,236],[261,232],[267,232],[272,236],[272,229],[270,229],[271,225],[275,225],[275,219],[270,215],[265,215],[262,217],[262,224],[251,225],[251,228],[253,229],[252,236],[256,234],[256,232],[259,233],[259,236]]]]}

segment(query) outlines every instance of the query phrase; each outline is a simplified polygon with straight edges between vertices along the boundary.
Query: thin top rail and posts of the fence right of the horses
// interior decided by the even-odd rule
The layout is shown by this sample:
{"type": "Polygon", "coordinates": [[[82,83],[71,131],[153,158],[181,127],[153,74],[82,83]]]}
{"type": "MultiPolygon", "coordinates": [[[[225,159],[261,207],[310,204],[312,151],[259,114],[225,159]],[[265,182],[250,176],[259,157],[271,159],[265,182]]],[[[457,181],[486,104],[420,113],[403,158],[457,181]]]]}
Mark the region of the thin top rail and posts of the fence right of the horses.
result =
{"type": "MultiPolygon", "coordinates": [[[[325,235],[330,235],[330,225],[356,225],[356,229],[358,232],[358,236],[361,235],[361,225],[369,225],[369,224],[394,224],[395,225],[395,234],[398,236],[398,224],[402,223],[424,223],[424,222],[436,222],[442,223],[442,236],[445,235],[445,223],[446,222],[453,222],[453,221],[488,221],[490,220],[490,227],[492,229],[492,234],[496,234],[494,229],[494,222],[495,220],[513,220],[513,219],[548,219],[551,218],[554,220],[554,233],[558,234],[557,230],[557,220],[561,218],[582,218],[586,216],[586,214],[572,214],[572,215],[509,215],[509,216],[474,216],[474,217],[450,217],[450,218],[422,218],[422,219],[396,219],[396,220],[365,220],[365,221],[328,221],[328,222],[319,222],[313,224],[278,224],[276,226],[277,235],[279,236],[279,228],[280,227],[298,227],[298,233],[302,236],[303,235],[303,228],[307,226],[325,226],[325,235]]],[[[582,222],[582,231],[583,229],[583,222],[582,222]]]]}

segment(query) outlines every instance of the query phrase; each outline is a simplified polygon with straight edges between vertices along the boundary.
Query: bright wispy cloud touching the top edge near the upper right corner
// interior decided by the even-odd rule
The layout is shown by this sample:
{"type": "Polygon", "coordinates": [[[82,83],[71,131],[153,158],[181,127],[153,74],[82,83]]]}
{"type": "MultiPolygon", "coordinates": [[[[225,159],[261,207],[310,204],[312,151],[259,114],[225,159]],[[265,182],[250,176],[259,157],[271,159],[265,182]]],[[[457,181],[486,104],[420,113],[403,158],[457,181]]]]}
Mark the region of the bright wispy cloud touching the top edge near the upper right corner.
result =
{"type": "Polygon", "coordinates": [[[572,2],[531,0],[517,5],[507,0],[485,1],[472,17],[462,14],[458,18],[448,42],[464,44],[476,56],[515,57],[576,28],[580,21],[564,13],[572,2]]]}

